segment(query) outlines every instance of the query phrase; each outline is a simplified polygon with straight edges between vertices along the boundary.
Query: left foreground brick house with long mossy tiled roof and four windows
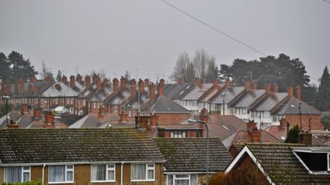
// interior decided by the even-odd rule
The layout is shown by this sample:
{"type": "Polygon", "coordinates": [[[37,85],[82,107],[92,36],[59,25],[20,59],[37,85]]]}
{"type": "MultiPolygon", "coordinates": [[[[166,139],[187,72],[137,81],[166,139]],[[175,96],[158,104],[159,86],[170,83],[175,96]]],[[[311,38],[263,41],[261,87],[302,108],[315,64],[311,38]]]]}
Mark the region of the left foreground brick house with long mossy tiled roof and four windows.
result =
{"type": "Polygon", "coordinates": [[[133,129],[0,130],[0,183],[162,184],[164,162],[133,129]]]}

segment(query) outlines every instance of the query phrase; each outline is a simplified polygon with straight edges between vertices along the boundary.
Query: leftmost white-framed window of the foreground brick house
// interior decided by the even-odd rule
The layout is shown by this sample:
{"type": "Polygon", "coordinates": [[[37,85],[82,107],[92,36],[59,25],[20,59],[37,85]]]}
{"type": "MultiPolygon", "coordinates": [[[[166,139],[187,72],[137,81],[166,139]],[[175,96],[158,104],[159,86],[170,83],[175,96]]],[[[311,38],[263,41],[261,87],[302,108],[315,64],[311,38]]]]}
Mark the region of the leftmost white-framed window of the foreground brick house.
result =
{"type": "Polygon", "coordinates": [[[5,167],[5,183],[30,181],[30,167],[5,167]]]}

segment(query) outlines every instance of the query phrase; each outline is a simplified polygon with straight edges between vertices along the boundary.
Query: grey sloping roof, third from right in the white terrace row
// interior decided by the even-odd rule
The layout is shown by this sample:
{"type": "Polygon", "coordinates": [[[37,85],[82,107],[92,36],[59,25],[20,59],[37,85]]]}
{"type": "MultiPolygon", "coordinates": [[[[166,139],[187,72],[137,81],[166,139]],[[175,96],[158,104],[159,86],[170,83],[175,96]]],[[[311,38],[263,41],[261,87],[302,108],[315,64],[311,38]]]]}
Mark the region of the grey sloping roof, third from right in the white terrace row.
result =
{"type": "Polygon", "coordinates": [[[230,104],[230,106],[235,108],[249,108],[255,101],[265,95],[265,93],[265,89],[245,91],[245,93],[243,93],[239,99],[230,104]]]}

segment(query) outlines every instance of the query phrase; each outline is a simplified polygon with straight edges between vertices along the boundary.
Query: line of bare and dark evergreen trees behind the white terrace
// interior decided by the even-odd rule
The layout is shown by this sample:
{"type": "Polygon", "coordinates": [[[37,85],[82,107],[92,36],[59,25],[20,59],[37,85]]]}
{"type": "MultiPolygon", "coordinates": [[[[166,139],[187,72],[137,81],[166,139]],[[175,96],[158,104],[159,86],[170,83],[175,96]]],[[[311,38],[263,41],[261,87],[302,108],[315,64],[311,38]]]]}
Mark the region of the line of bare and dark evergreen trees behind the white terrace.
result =
{"type": "Polygon", "coordinates": [[[243,86],[245,80],[256,81],[259,88],[265,84],[278,84],[279,90],[286,91],[289,86],[301,86],[302,99],[319,110],[330,110],[330,77],[327,66],[319,86],[310,83],[306,67],[298,58],[290,58],[281,53],[278,57],[267,56],[259,60],[235,59],[231,65],[217,67],[216,59],[203,49],[195,51],[190,58],[188,53],[180,53],[171,75],[173,81],[183,78],[184,82],[201,82],[229,78],[235,86],[243,86]],[[325,101],[327,100],[327,101],[325,101]]]}

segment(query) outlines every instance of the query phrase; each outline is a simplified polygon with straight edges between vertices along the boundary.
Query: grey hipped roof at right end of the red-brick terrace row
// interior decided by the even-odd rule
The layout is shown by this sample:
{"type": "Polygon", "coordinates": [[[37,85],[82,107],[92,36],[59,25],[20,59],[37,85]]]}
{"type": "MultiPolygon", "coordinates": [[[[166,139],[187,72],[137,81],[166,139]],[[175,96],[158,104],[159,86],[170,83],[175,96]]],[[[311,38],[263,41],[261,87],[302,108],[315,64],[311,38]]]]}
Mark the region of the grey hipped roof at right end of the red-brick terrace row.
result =
{"type": "Polygon", "coordinates": [[[142,112],[155,112],[155,113],[190,113],[189,110],[175,103],[172,99],[164,95],[157,97],[157,99],[147,103],[142,112]]]}

